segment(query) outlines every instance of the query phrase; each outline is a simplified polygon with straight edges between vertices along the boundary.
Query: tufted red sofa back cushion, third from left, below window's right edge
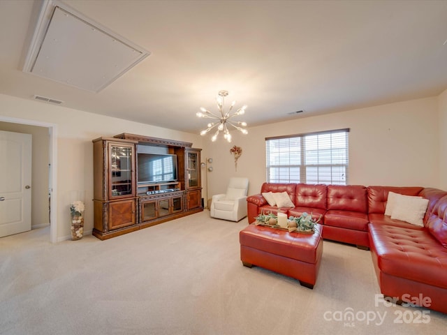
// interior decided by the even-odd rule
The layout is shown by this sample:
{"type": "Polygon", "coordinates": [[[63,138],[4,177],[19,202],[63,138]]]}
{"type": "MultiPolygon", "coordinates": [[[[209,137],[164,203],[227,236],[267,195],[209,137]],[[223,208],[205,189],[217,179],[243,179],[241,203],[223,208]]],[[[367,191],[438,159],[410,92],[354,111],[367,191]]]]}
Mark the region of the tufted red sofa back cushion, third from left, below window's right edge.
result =
{"type": "Polygon", "coordinates": [[[328,185],[328,210],[367,213],[367,192],[360,185],[328,185]]]}

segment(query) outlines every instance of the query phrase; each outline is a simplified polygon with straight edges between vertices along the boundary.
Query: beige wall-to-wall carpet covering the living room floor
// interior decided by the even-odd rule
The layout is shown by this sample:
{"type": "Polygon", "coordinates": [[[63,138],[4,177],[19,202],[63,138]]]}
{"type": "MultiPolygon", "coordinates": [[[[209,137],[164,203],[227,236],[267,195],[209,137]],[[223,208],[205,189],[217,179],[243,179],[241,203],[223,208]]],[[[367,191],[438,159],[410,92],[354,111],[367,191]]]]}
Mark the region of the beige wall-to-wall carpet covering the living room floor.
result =
{"type": "Polygon", "coordinates": [[[369,251],[325,241],[318,281],[309,290],[271,271],[243,267],[238,232],[247,218],[234,223],[209,215],[203,211],[108,241],[85,236],[50,244],[49,228],[3,237],[0,334],[444,334],[447,329],[442,313],[376,304],[379,286],[369,251]],[[343,320],[349,311],[354,320],[343,320]]]}

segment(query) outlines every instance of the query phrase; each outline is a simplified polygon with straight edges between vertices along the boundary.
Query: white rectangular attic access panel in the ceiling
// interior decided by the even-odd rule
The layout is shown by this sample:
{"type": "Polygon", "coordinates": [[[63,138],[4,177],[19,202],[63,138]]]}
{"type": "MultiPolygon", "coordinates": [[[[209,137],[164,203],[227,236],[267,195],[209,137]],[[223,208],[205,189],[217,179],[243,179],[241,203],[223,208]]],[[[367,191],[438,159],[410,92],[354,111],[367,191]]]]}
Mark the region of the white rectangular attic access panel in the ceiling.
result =
{"type": "Polygon", "coordinates": [[[55,6],[29,72],[87,91],[101,91],[149,55],[114,35],[55,6]]]}

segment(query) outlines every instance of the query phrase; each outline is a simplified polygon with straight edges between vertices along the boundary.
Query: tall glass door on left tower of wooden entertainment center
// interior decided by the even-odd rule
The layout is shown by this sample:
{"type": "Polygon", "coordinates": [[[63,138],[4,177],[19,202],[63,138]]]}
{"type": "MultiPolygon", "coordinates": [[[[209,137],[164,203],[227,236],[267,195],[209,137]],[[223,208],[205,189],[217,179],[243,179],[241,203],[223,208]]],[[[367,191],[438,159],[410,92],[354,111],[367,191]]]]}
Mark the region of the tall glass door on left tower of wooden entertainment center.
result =
{"type": "Polygon", "coordinates": [[[133,146],[109,144],[110,198],[133,195],[133,146]]]}

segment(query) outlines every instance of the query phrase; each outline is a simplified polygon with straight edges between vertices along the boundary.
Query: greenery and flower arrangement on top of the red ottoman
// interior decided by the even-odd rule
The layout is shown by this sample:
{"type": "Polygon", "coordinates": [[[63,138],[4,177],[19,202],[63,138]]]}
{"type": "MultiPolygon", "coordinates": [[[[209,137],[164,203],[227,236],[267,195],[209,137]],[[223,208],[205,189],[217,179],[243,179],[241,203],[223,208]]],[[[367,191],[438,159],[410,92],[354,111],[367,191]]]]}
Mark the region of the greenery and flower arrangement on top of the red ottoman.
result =
{"type": "MultiPolygon", "coordinates": [[[[278,225],[277,215],[273,213],[264,214],[261,212],[256,216],[256,225],[268,225],[272,228],[282,228],[278,225]]],[[[289,232],[314,232],[315,224],[321,220],[321,216],[316,219],[312,217],[311,214],[306,212],[302,213],[300,216],[289,216],[287,220],[287,230],[289,232]]]]}

